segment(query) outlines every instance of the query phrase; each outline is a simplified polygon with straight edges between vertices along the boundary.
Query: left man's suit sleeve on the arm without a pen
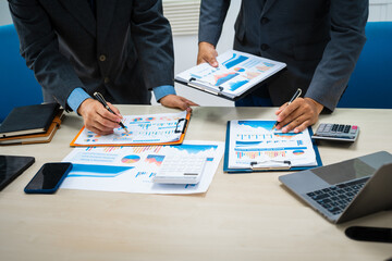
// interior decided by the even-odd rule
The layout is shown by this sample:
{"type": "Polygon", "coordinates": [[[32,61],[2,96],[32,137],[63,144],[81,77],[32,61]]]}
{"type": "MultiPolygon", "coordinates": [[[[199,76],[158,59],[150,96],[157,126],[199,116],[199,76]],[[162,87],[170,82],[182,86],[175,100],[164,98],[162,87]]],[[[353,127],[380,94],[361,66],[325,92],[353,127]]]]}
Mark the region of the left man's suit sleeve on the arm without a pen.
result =
{"type": "Polygon", "coordinates": [[[131,35],[148,89],[174,85],[173,39],[161,0],[134,1],[131,35]]]}

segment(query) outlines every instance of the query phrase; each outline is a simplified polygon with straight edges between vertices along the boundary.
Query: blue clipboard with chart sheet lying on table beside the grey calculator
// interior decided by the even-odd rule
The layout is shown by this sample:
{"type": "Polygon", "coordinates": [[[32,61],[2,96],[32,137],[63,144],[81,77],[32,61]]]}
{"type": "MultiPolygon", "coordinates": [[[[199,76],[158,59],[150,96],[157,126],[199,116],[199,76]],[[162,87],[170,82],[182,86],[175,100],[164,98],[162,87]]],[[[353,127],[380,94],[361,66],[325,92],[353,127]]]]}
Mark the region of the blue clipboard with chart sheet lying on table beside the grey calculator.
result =
{"type": "Polygon", "coordinates": [[[311,128],[302,133],[272,129],[275,121],[228,122],[223,171],[298,171],[321,166],[311,128]]]}

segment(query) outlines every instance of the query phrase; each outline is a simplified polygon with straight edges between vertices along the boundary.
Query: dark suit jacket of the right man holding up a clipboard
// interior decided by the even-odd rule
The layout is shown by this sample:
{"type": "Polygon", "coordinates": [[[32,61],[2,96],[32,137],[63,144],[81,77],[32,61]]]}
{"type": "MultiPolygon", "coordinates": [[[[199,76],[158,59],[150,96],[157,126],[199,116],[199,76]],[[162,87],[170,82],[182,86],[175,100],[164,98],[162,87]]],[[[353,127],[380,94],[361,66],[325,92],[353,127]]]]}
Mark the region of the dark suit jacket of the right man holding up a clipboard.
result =
{"type": "MultiPolygon", "coordinates": [[[[305,97],[332,111],[365,45],[368,4],[368,0],[243,0],[234,49],[287,64],[268,84],[274,105],[302,88],[305,97]]],[[[230,0],[201,1],[199,41],[217,45],[229,5],[230,0]]]]}

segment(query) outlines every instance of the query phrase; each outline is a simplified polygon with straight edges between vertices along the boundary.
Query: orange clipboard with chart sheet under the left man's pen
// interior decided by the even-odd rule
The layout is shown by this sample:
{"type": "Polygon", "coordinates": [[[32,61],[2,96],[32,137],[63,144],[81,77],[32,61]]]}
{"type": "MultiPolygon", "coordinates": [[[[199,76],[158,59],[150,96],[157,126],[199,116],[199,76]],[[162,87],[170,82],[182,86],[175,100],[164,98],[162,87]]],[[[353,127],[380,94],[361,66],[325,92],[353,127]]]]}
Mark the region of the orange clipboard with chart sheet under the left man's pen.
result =
{"type": "Polygon", "coordinates": [[[148,146],[180,145],[183,142],[191,112],[161,113],[147,115],[124,115],[122,127],[113,129],[110,135],[98,135],[83,127],[70,146],[148,146]]]}

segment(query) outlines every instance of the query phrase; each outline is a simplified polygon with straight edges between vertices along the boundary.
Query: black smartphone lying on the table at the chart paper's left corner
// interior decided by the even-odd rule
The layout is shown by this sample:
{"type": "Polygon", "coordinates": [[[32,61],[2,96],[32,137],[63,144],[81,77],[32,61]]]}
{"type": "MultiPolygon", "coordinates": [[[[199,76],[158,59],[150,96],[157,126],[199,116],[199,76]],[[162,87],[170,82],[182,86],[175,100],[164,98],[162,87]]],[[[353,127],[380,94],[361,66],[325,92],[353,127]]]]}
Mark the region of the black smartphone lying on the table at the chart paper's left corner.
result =
{"type": "Polygon", "coordinates": [[[24,191],[26,194],[53,194],[71,170],[72,163],[70,162],[45,163],[24,191]]]}

